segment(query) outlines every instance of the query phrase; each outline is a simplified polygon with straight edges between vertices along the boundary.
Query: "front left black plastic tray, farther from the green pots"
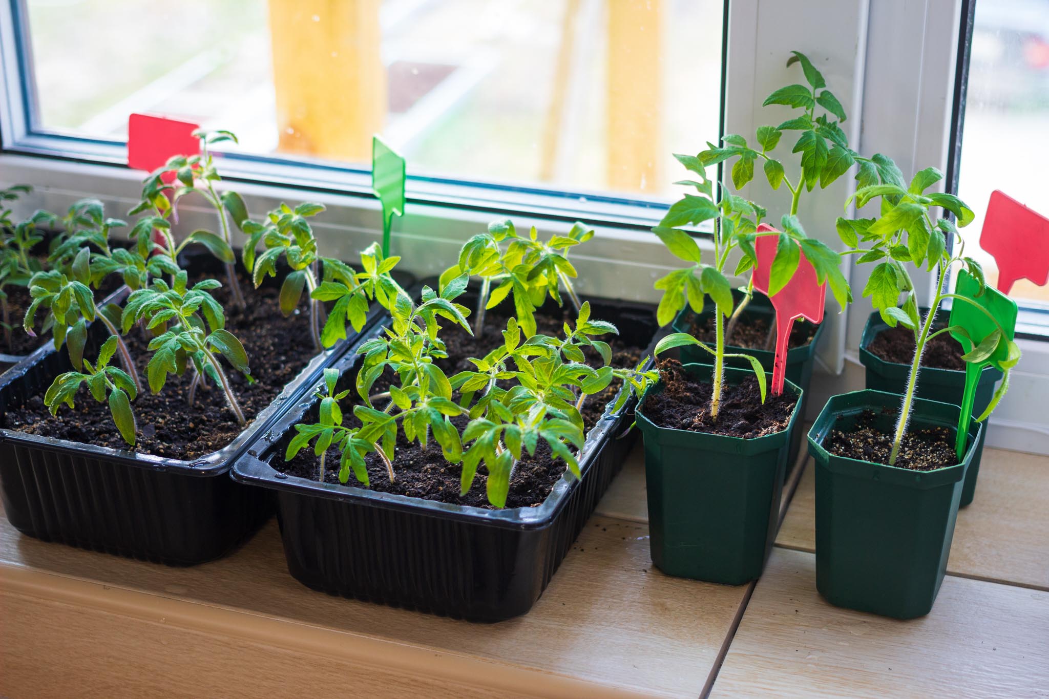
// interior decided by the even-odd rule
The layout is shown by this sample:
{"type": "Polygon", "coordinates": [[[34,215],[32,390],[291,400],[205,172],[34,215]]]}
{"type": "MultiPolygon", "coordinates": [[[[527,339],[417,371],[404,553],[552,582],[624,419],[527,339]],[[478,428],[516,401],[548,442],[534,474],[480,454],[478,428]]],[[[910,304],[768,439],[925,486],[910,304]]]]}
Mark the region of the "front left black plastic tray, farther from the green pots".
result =
{"type": "MultiPolygon", "coordinates": [[[[377,305],[368,327],[383,316],[381,311],[377,305]]],[[[105,336],[105,328],[94,324],[89,350],[105,336]]],[[[230,444],[192,461],[3,428],[8,405],[39,394],[70,368],[64,351],[56,352],[50,344],[38,349],[0,377],[0,496],[8,521],[44,541],[167,565],[194,565],[223,555],[253,534],[274,509],[270,494],[227,477],[234,459],[355,340],[351,335],[316,355],[230,444]]]]}

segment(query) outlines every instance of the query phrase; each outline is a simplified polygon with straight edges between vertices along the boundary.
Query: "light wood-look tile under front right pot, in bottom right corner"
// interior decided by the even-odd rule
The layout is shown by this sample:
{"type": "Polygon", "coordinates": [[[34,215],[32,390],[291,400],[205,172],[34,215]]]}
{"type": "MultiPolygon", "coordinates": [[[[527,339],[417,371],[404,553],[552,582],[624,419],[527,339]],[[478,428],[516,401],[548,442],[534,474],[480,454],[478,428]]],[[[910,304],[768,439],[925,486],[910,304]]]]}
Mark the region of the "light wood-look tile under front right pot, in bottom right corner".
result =
{"type": "Polygon", "coordinates": [[[815,555],[774,548],[711,697],[1046,697],[1049,592],[947,576],[900,621],[832,607],[815,555]]]}

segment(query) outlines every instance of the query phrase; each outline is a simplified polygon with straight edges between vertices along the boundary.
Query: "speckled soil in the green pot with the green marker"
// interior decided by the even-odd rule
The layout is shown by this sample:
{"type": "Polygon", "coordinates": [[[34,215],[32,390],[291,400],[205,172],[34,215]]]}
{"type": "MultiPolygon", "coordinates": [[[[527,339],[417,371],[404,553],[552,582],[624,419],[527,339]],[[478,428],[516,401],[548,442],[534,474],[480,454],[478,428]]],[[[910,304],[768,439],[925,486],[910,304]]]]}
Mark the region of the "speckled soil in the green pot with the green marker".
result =
{"type": "MultiPolygon", "coordinates": [[[[898,413],[885,410],[883,414],[891,414],[895,418],[898,413]]],[[[887,464],[894,435],[874,427],[876,418],[873,411],[863,411],[852,429],[832,430],[823,446],[836,456],[887,464]]],[[[911,471],[935,471],[956,463],[958,456],[955,453],[955,433],[947,428],[938,427],[908,430],[904,433],[895,465],[911,471]]]]}

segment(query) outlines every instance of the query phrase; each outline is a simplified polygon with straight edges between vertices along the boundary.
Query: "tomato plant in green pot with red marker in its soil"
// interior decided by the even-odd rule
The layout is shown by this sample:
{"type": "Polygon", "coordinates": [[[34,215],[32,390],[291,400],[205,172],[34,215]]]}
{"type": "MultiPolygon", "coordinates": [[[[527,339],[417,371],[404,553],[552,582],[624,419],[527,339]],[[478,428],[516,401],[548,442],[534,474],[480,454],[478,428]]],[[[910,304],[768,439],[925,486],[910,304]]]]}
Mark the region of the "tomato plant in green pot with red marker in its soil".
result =
{"type": "MultiPolygon", "coordinates": [[[[729,193],[727,185],[720,200],[713,198],[714,182],[702,163],[719,157],[710,151],[697,156],[692,165],[700,176],[695,182],[700,194],[685,195],[654,228],[675,256],[690,263],[656,282],[656,288],[663,290],[659,322],[669,323],[686,305],[699,312],[709,294],[715,330],[712,348],[691,333],[677,332],[660,341],[656,352],[694,346],[712,355],[713,366],[663,363],[660,383],[647,392],[638,410],[638,423],[645,440],[652,562],[673,575],[742,584],[761,574],[775,537],[801,391],[787,381],[782,394],[766,400],[761,362],[726,352],[725,321],[733,310],[726,265],[738,250],[735,274],[752,275],[758,263],[757,239],[776,236],[770,296],[790,282],[801,253],[818,281],[827,282],[842,305],[850,294],[838,255],[808,238],[796,216],[783,216],[783,232],[759,230],[765,216],[762,206],[729,193]],[[705,264],[695,239],[677,227],[708,220],[714,222],[713,264],[705,264]],[[726,368],[726,357],[745,359],[751,370],[726,368]],[[732,534],[722,536],[725,531],[732,534]]],[[[745,161],[741,155],[740,162],[745,161]]],[[[742,187],[747,180],[737,177],[735,184],[742,187]]],[[[799,181],[798,190],[801,185],[799,181]]],[[[747,286],[753,287],[753,279],[747,286]]]]}

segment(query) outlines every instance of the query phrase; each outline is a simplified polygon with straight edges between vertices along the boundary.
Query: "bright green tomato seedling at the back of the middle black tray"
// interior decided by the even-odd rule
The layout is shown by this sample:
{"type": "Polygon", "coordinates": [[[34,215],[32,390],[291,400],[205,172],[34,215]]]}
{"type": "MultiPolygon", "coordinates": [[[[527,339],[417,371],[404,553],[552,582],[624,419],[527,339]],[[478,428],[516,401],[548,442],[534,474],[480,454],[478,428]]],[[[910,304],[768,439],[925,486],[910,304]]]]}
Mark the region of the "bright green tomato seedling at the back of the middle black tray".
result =
{"type": "Polygon", "coordinates": [[[512,293],[520,328],[530,337],[536,332],[536,308],[542,305],[548,293],[561,306],[563,288],[578,314],[579,297],[572,284],[577,274],[569,262],[569,250],[593,237],[593,230],[576,222],[568,236],[552,236],[542,242],[534,226],[523,238],[517,235],[511,220],[494,221],[489,224],[488,233],[478,234],[463,245],[458,263],[441,275],[441,286],[443,288],[463,275],[480,277],[473,325],[473,332],[478,337],[484,329],[485,311],[512,293]]]}

